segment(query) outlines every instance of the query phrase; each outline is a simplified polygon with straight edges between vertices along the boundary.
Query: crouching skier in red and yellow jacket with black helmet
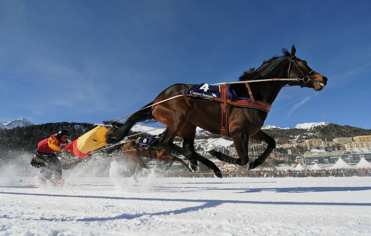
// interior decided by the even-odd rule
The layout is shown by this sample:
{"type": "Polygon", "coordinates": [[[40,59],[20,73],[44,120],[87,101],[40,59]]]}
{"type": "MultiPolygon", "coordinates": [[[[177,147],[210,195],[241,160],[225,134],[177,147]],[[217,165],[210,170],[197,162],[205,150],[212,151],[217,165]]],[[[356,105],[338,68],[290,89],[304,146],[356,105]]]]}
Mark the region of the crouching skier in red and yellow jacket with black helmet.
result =
{"type": "Polygon", "coordinates": [[[63,184],[62,168],[56,152],[63,151],[68,145],[69,132],[65,129],[39,142],[36,154],[31,160],[31,165],[40,168],[39,181],[47,183],[54,178],[56,184],[63,184]]]}

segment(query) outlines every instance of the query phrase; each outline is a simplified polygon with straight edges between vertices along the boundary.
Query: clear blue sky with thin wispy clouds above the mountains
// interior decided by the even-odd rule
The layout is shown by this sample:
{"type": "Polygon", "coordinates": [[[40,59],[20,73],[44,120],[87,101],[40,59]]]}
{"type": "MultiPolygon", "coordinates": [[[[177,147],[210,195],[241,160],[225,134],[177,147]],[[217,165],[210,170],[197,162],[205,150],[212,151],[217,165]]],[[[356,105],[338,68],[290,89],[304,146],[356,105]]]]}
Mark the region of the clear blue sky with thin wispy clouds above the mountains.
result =
{"type": "Polygon", "coordinates": [[[0,121],[115,119],[176,83],[237,81],[295,44],[328,77],[265,125],[371,129],[370,1],[0,1],[0,121]]]}

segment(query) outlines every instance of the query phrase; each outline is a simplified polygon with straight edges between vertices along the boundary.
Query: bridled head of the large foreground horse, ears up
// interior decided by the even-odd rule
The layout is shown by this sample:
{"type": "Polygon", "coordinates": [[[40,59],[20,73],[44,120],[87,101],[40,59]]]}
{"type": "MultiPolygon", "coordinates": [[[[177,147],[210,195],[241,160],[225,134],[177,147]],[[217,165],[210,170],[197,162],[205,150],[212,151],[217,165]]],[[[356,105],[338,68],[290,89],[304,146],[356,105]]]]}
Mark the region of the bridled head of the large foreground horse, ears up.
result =
{"type": "Polygon", "coordinates": [[[315,91],[322,90],[327,83],[327,78],[312,70],[308,64],[306,64],[306,61],[295,56],[295,52],[295,46],[292,45],[291,53],[286,57],[290,60],[288,78],[300,79],[298,81],[290,81],[288,84],[313,88],[315,91]]]}

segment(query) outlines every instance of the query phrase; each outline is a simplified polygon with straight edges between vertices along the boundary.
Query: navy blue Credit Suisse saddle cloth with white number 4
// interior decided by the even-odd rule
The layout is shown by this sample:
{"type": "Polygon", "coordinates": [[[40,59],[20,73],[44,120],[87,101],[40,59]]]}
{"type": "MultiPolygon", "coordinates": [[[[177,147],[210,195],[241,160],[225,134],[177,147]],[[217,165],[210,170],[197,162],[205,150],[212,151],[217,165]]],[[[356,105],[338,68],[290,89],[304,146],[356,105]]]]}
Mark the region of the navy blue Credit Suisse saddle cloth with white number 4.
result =
{"type": "MultiPolygon", "coordinates": [[[[232,100],[232,101],[235,101],[235,100],[252,101],[251,98],[243,98],[243,97],[237,96],[236,92],[234,91],[234,89],[231,87],[230,84],[227,85],[227,88],[228,88],[228,99],[229,100],[232,100]]],[[[183,94],[184,95],[191,94],[191,95],[196,96],[196,97],[208,98],[208,99],[212,100],[213,97],[220,98],[220,88],[217,85],[209,85],[207,83],[195,84],[195,85],[193,85],[193,87],[189,91],[184,90],[183,94]]]]}

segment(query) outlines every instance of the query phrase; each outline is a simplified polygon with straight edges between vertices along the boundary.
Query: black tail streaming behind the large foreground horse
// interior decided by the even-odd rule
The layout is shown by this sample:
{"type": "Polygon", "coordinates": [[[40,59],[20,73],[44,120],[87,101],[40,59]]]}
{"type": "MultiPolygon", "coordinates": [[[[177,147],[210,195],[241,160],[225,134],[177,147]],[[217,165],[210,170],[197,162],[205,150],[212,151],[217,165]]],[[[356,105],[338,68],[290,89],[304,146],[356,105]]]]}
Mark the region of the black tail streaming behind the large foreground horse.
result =
{"type": "Polygon", "coordinates": [[[109,132],[106,134],[106,143],[107,144],[115,144],[116,142],[121,141],[125,138],[128,134],[130,129],[135,125],[137,122],[148,122],[154,119],[151,111],[151,105],[153,102],[145,105],[141,110],[132,114],[124,124],[119,122],[106,122],[104,124],[111,124],[112,128],[109,129],[109,132]],[[147,107],[147,108],[145,108],[147,107]]]}

